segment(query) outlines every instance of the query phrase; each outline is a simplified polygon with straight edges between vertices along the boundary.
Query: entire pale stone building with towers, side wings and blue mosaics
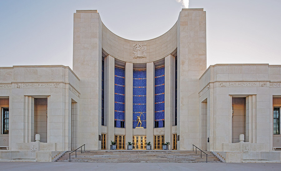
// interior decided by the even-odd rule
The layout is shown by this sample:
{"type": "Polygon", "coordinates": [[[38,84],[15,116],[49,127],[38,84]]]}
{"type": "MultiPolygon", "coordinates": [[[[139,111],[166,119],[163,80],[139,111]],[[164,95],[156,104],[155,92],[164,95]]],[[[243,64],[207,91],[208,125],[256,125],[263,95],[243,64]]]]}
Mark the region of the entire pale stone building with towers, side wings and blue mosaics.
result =
{"type": "Polygon", "coordinates": [[[0,159],[51,161],[115,141],[117,149],[170,142],[170,150],[195,145],[226,162],[280,161],[280,67],[206,68],[203,8],[182,9],[170,30],[143,41],[115,35],[96,10],[76,10],[73,71],[0,68],[0,147],[8,149],[0,159]]]}

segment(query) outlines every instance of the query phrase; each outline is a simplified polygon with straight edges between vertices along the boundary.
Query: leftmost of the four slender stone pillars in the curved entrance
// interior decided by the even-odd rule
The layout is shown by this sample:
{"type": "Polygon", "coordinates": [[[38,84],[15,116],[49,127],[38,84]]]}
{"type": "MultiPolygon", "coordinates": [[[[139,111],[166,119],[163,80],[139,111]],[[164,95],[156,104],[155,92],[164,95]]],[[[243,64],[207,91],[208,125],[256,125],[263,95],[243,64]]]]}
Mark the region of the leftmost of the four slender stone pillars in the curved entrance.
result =
{"type": "Polygon", "coordinates": [[[107,149],[110,149],[110,141],[114,141],[114,58],[108,55],[104,58],[104,65],[106,65],[106,125],[107,125],[107,149]]]}

